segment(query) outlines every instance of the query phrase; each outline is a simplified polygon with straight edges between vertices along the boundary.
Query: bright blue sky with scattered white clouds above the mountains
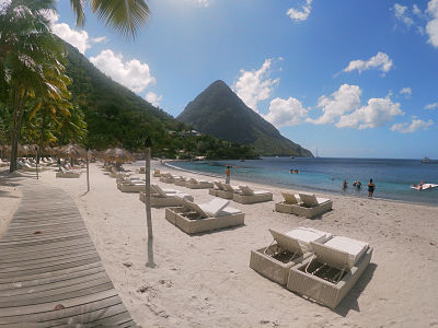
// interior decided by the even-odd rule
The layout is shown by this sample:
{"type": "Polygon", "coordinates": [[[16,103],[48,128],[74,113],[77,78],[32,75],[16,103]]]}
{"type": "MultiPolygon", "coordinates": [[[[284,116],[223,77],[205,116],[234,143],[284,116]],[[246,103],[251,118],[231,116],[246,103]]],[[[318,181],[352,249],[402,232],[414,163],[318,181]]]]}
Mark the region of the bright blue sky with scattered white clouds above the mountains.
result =
{"type": "Polygon", "coordinates": [[[136,40],[58,2],[56,34],[173,116],[223,80],[321,156],[438,159],[438,0],[150,0],[136,40]],[[415,4],[414,4],[415,3],[415,4]]]}

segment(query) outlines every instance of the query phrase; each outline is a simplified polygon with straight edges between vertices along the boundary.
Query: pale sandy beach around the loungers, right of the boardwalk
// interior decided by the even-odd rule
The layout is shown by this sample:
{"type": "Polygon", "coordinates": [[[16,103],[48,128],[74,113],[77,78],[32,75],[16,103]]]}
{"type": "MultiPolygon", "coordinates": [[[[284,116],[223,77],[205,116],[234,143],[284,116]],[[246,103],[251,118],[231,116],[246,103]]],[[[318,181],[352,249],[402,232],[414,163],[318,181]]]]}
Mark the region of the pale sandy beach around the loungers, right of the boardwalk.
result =
{"type": "MultiPolygon", "coordinates": [[[[153,167],[175,172],[157,162],[153,167]]],[[[142,327],[438,326],[438,207],[321,195],[333,200],[333,211],[309,220],[274,211],[281,189],[251,184],[274,192],[274,201],[231,201],[245,213],[245,225],[235,229],[189,236],[164,219],[164,209],[152,209],[155,267],[148,268],[139,195],[120,192],[96,164],[91,165],[90,177],[90,192],[85,174],[56,179],[54,172],[44,172],[39,183],[62,188],[74,200],[116,290],[142,327]],[[249,267],[250,250],[272,242],[268,229],[287,232],[299,226],[374,247],[370,266],[336,311],[291,293],[249,267]]],[[[212,199],[206,189],[159,184],[188,192],[196,202],[212,199]]],[[[0,180],[0,191],[4,227],[20,191],[8,178],[0,180]]]]}

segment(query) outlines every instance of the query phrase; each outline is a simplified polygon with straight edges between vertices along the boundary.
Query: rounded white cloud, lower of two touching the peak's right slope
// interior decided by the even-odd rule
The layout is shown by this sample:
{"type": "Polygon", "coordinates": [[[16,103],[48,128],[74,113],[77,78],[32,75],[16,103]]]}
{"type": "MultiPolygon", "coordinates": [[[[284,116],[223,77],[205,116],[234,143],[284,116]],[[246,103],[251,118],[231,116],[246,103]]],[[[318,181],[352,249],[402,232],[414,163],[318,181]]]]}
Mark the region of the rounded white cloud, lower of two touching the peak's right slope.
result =
{"type": "Polygon", "coordinates": [[[277,128],[280,128],[296,126],[306,121],[308,109],[302,106],[299,99],[293,97],[288,99],[274,98],[269,104],[269,113],[262,116],[277,128]]]}

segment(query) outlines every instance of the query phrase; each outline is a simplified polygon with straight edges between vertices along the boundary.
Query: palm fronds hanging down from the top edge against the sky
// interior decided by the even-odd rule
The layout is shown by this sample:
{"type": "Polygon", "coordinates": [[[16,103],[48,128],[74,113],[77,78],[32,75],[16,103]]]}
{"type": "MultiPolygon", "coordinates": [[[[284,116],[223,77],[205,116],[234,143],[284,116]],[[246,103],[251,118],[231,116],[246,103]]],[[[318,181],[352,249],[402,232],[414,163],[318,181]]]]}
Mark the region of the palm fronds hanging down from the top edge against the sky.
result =
{"type": "Polygon", "coordinates": [[[85,23],[84,4],[90,2],[91,10],[97,19],[117,30],[125,37],[136,37],[141,25],[149,17],[149,8],[145,0],[70,0],[77,16],[77,25],[85,23]]]}

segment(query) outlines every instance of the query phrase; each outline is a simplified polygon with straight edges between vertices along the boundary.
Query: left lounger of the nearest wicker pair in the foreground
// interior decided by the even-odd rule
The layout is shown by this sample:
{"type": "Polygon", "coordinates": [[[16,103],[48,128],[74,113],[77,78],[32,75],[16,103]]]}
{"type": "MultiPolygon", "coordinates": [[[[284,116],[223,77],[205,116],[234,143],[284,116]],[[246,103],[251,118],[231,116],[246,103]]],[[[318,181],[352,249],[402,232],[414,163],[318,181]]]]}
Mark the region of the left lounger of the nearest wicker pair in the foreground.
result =
{"type": "Polygon", "coordinates": [[[312,255],[311,242],[325,243],[332,237],[332,234],[311,227],[298,227],[285,234],[270,229],[269,232],[273,243],[251,250],[250,267],[281,285],[286,285],[290,269],[312,255]]]}

